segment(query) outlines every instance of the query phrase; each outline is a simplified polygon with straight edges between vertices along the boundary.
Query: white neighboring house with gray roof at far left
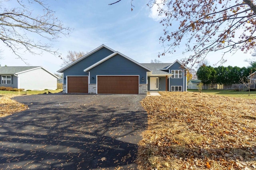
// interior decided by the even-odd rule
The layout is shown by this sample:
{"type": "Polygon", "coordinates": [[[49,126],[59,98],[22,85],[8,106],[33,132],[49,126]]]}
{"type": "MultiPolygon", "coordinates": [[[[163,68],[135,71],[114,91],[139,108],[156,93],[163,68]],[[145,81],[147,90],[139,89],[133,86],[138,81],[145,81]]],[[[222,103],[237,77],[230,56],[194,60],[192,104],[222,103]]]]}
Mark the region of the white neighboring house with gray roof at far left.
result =
{"type": "Polygon", "coordinates": [[[42,66],[0,66],[0,86],[56,90],[58,76],[42,66]]]}

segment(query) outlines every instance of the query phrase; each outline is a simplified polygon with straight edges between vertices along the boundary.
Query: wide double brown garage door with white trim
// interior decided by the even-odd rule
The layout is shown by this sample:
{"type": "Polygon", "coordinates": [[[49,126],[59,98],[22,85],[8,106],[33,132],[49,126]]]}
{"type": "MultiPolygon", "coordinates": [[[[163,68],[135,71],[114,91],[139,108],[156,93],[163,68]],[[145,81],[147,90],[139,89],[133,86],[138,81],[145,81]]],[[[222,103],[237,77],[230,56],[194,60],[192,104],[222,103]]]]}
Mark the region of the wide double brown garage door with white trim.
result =
{"type": "Polygon", "coordinates": [[[139,76],[98,76],[98,94],[139,94],[139,76]]]}

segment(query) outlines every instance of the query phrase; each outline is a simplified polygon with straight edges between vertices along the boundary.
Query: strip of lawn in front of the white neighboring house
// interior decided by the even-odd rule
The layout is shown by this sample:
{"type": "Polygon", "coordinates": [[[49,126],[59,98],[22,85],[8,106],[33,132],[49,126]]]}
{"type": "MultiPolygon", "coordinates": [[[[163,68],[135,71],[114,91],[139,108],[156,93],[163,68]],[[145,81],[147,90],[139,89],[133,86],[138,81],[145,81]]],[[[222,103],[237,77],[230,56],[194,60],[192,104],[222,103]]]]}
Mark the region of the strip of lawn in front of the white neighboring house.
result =
{"type": "Polygon", "coordinates": [[[32,90],[32,91],[22,91],[22,92],[12,92],[12,91],[3,91],[0,90],[0,96],[20,96],[20,95],[31,95],[31,94],[43,94],[43,93],[58,93],[61,92],[62,89],[58,90],[32,90]]]}

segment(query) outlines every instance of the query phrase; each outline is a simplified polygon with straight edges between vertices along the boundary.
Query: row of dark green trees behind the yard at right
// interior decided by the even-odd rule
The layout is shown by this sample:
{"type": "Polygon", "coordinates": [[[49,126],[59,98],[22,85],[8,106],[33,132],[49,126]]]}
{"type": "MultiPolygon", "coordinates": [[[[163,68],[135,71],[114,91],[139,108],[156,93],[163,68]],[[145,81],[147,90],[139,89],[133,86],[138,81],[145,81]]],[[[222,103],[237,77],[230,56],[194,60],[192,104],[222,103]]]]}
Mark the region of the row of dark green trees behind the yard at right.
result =
{"type": "Polygon", "coordinates": [[[252,72],[256,71],[256,62],[250,63],[250,66],[238,67],[238,66],[206,66],[203,64],[196,72],[199,80],[204,83],[206,89],[228,89],[231,88],[232,84],[240,84],[241,78],[244,80],[252,72]],[[219,85],[219,86],[218,86],[219,85]]]}

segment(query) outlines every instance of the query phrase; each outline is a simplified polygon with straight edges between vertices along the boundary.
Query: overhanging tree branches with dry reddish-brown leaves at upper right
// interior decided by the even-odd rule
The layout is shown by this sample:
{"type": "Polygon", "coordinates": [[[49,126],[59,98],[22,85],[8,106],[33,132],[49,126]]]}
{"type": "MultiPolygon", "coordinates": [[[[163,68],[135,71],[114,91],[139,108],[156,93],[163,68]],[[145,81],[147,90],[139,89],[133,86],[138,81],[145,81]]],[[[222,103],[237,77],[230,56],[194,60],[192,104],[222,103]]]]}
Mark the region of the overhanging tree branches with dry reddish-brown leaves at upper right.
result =
{"type": "Polygon", "coordinates": [[[164,35],[160,41],[164,52],[173,53],[184,44],[193,52],[184,63],[202,62],[210,52],[249,52],[256,45],[255,0],[150,0],[148,6],[158,7],[164,35]]]}

